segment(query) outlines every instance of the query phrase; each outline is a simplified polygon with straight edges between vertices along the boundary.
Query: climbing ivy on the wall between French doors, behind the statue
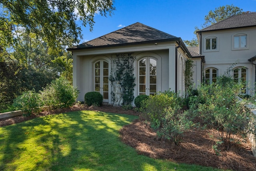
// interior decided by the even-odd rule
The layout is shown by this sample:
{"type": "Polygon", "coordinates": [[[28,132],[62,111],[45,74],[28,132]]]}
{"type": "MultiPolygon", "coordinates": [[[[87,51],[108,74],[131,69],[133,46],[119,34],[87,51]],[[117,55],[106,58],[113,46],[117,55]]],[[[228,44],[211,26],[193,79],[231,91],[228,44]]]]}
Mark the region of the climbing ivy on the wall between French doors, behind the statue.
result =
{"type": "MultiPolygon", "coordinates": [[[[134,99],[134,63],[135,57],[132,54],[116,54],[113,58],[112,69],[109,80],[112,87],[117,80],[123,88],[124,104],[130,104],[134,99]]],[[[112,99],[114,100],[114,92],[111,92],[112,99]]]]}

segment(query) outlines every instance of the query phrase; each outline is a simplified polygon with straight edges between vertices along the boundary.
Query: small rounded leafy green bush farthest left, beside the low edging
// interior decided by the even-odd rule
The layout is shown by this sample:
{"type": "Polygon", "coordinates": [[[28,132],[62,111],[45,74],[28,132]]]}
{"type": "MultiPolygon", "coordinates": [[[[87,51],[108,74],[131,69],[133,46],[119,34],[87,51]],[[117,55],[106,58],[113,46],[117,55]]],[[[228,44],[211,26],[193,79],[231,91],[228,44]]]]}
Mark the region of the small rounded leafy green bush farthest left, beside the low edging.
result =
{"type": "Polygon", "coordinates": [[[32,113],[38,114],[41,111],[42,99],[39,93],[33,91],[25,91],[14,99],[14,107],[22,110],[26,115],[30,116],[32,113]]]}

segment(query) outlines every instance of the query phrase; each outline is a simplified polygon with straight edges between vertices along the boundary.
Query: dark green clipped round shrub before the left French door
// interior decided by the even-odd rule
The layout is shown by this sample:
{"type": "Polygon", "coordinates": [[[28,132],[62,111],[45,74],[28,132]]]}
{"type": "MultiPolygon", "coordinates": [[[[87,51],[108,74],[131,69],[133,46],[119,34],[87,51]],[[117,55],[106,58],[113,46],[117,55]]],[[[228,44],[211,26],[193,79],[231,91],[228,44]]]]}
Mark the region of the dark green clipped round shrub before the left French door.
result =
{"type": "Polygon", "coordinates": [[[102,105],[103,102],[103,96],[101,93],[96,91],[90,91],[84,95],[84,103],[88,106],[91,106],[92,104],[102,105]]]}

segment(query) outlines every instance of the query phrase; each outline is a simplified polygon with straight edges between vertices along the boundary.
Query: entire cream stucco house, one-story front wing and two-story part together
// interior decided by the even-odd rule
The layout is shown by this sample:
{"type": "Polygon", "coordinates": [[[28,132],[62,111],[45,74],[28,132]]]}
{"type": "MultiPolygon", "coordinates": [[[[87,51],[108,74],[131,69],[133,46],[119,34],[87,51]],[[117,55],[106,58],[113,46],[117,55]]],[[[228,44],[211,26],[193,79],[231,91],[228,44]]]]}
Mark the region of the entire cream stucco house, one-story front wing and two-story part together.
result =
{"type": "Polygon", "coordinates": [[[73,85],[80,90],[77,100],[98,91],[104,102],[112,104],[114,82],[122,79],[117,74],[118,66],[124,65],[120,59],[130,59],[132,64],[122,70],[135,78],[130,88],[133,97],[169,89],[184,95],[185,63],[190,58],[195,87],[230,74],[244,83],[242,93],[254,93],[256,13],[229,17],[198,31],[197,38],[199,46],[187,48],[181,38],[137,22],[69,48],[74,59],[73,85]]]}

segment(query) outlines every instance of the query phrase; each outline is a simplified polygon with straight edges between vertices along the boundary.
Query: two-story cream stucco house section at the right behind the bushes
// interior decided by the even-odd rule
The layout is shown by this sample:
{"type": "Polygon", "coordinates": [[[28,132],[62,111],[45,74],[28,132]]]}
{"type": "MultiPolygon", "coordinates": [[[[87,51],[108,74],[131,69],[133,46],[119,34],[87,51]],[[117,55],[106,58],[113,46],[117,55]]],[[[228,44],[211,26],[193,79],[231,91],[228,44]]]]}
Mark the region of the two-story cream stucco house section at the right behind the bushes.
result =
{"type": "Polygon", "coordinates": [[[254,92],[256,13],[231,16],[198,31],[197,38],[199,47],[189,48],[196,65],[196,86],[201,82],[211,84],[216,77],[230,74],[236,82],[246,82],[242,93],[254,92]]]}

